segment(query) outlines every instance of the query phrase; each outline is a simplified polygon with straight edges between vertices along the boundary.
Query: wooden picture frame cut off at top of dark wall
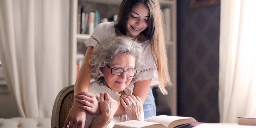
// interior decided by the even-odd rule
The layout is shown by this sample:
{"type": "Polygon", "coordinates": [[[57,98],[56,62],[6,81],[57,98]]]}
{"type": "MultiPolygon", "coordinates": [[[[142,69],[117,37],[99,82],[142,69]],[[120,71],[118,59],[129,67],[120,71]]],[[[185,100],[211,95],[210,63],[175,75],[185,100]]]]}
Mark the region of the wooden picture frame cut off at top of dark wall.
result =
{"type": "Polygon", "coordinates": [[[218,5],[221,0],[190,0],[190,8],[202,8],[207,6],[218,5]]]}

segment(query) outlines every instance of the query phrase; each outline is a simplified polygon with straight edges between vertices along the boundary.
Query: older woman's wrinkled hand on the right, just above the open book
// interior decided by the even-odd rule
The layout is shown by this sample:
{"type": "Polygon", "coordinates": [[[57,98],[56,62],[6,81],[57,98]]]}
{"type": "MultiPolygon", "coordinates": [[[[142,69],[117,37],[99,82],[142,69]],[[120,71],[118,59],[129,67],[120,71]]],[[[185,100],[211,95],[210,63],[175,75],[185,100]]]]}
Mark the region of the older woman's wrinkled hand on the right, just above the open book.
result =
{"type": "Polygon", "coordinates": [[[127,96],[121,99],[121,104],[125,108],[125,113],[130,120],[141,120],[142,102],[138,96],[127,96]]]}

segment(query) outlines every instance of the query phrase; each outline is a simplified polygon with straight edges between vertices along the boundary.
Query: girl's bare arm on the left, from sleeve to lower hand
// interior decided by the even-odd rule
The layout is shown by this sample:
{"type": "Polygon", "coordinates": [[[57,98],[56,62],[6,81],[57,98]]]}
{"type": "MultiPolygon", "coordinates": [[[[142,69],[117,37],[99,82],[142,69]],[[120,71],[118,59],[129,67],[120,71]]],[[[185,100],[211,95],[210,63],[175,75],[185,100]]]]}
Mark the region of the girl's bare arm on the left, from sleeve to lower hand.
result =
{"type": "MultiPolygon", "coordinates": [[[[90,73],[90,65],[89,65],[89,59],[92,55],[93,47],[88,47],[85,57],[83,59],[83,65],[81,66],[81,69],[78,73],[78,77],[74,86],[74,94],[77,92],[82,92],[82,91],[88,91],[89,86],[90,86],[90,78],[91,78],[91,73],[90,73]]],[[[83,105],[78,102],[75,102],[72,105],[67,118],[64,123],[64,127],[67,128],[67,125],[69,124],[69,128],[78,127],[83,128],[85,125],[85,119],[86,119],[86,112],[83,109],[80,109],[78,105],[83,105]]]]}

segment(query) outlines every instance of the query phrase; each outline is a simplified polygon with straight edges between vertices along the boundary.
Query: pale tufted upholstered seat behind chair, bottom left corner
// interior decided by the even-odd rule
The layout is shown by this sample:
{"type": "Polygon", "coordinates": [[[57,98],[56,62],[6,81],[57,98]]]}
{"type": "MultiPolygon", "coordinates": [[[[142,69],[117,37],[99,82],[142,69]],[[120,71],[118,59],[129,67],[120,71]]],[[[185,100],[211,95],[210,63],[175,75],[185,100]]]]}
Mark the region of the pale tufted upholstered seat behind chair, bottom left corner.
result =
{"type": "Polygon", "coordinates": [[[51,118],[0,118],[0,128],[50,128],[51,118]]]}

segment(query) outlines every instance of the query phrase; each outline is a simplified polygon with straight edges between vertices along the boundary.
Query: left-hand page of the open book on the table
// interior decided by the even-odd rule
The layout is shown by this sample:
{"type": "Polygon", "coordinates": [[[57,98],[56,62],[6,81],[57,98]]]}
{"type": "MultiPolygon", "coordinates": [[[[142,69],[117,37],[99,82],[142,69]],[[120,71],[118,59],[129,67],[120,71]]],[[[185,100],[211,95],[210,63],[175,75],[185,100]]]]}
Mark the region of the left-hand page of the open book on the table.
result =
{"type": "MultiPolygon", "coordinates": [[[[125,122],[117,123],[117,124],[115,124],[115,126],[116,125],[117,126],[131,127],[131,128],[141,128],[141,127],[146,127],[146,126],[150,126],[150,125],[162,125],[162,124],[155,123],[155,122],[130,120],[130,121],[125,121],[125,122]]],[[[115,128],[115,126],[113,128],[115,128]]],[[[165,127],[165,126],[163,126],[163,127],[165,127]]]]}

